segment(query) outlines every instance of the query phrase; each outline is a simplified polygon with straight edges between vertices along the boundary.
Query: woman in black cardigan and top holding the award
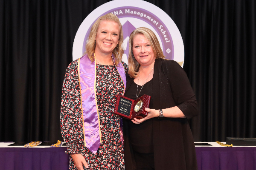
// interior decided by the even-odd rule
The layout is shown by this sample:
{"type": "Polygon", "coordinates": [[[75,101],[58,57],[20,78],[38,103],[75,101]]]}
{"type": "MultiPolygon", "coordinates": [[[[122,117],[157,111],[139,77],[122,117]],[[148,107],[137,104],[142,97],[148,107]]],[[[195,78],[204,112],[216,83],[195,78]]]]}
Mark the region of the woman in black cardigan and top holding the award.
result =
{"type": "Polygon", "coordinates": [[[124,121],[126,170],[196,170],[187,119],[198,115],[195,94],[180,65],[165,59],[148,28],[130,35],[125,96],[151,96],[148,116],[124,121]]]}

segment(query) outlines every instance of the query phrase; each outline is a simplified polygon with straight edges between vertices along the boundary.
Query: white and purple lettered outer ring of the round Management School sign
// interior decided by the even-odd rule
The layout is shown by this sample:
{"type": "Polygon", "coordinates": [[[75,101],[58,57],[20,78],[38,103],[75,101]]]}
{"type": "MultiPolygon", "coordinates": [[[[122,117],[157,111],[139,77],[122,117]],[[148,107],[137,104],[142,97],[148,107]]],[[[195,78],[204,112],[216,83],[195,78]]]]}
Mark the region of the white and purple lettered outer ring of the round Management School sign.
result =
{"type": "MultiPolygon", "coordinates": [[[[123,20],[129,20],[130,17],[144,20],[151,26],[155,27],[154,29],[151,27],[151,29],[157,35],[164,54],[170,55],[170,57],[166,58],[179,62],[179,64],[183,67],[184,45],[180,31],[178,30],[176,24],[162,9],[143,0],[113,0],[93,10],[81,23],[76,33],[76,37],[73,43],[73,60],[82,57],[84,51],[85,36],[90,32],[90,28],[93,23],[100,16],[108,12],[116,14],[122,24],[124,24],[123,20]],[[133,11],[134,14],[131,13],[131,11],[133,11]],[[154,14],[151,13],[151,11],[154,11],[154,14]],[[135,12],[139,14],[135,14],[135,12]],[[159,25],[157,21],[159,22],[159,25]],[[166,30],[164,28],[166,28],[166,30]],[[168,37],[168,35],[170,35],[170,37],[168,37]],[[166,47],[165,44],[167,43],[169,43],[169,48],[171,49],[166,47]]],[[[125,28],[123,27],[123,30],[124,29],[125,28]]],[[[124,37],[124,40],[125,38],[126,37],[124,37]]],[[[123,60],[127,62],[127,59],[123,60]]]]}

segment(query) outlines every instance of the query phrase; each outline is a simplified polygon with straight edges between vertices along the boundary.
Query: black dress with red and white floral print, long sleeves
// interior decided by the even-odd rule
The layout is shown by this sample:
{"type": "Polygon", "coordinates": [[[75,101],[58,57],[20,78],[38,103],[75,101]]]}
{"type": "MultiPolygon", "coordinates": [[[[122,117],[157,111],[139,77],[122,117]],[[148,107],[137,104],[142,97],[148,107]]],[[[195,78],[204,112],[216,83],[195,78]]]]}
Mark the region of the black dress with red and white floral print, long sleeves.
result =
{"type": "MultiPolygon", "coordinates": [[[[125,73],[127,65],[122,62],[125,73]]],[[[120,117],[116,116],[114,106],[117,94],[122,94],[124,85],[116,66],[96,64],[96,97],[99,111],[102,144],[96,154],[84,146],[78,61],[67,68],[62,88],[61,133],[67,142],[67,152],[81,153],[89,170],[124,170],[123,144],[120,138],[120,117]]],[[[85,168],[84,168],[85,169],[85,168]]],[[[70,156],[70,170],[76,170],[70,156]]]]}

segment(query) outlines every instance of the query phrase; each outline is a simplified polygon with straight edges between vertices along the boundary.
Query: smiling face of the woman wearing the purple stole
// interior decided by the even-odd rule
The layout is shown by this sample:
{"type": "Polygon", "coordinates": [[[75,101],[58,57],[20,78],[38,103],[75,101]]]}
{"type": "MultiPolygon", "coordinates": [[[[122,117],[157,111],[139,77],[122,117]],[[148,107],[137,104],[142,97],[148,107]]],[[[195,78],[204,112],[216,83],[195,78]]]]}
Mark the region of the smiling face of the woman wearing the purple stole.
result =
{"type": "Polygon", "coordinates": [[[96,34],[95,53],[103,55],[112,54],[119,43],[119,25],[116,22],[104,20],[99,24],[96,34]]]}

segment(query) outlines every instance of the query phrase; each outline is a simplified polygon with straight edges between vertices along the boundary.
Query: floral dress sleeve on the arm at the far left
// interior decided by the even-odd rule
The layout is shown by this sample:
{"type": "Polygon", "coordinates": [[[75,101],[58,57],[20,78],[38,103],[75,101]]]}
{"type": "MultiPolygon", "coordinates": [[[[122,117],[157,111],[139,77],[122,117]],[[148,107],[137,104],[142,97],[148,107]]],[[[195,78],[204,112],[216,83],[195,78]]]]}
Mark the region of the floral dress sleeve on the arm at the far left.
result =
{"type": "Polygon", "coordinates": [[[61,135],[67,143],[66,153],[81,153],[84,138],[76,61],[70,63],[64,77],[61,96],[61,135]]]}

